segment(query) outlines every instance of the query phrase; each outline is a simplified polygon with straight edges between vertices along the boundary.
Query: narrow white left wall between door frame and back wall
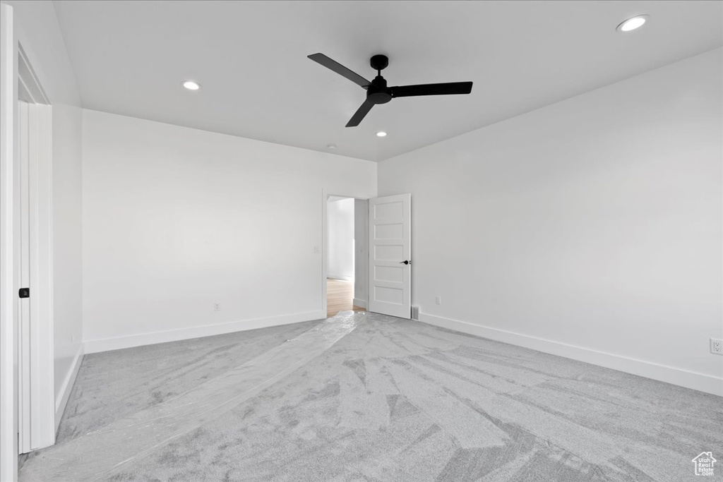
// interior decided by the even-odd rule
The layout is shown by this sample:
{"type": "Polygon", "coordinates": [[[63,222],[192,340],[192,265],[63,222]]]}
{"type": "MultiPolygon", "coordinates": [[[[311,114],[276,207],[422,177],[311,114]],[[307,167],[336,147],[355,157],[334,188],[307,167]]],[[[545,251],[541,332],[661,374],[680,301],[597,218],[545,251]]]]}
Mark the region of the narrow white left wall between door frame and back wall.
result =
{"type": "Polygon", "coordinates": [[[14,9],[20,45],[53,106],[55,394],[63,408],[82,349],[80,94],[53,3],[3,3],[14,9]]]}

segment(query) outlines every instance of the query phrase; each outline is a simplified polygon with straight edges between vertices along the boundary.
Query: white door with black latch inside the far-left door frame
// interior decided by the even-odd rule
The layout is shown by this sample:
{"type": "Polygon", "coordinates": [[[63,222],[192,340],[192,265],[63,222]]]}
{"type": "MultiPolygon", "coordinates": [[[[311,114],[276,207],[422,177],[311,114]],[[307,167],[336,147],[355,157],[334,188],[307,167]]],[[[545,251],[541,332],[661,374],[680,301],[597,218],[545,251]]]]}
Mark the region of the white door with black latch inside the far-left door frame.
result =
{"type": "Polygon", "coordinates": [[[20,453],[55,443],[51,131],[47,106],[18,102],[17,421],[20,453]]]}

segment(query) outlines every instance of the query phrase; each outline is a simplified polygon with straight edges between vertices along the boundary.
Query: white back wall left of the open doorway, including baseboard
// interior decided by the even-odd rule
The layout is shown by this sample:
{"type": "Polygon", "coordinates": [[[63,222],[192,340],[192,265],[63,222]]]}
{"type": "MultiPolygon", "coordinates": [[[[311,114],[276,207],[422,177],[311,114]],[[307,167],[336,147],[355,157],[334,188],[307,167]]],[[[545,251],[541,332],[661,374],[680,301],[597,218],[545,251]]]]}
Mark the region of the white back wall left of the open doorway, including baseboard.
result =
{"type": "Polygon", "coordinates": [[[83,111],[87,350],[325,318],[323,191],[374,197],[376,179],[365,160],[83,111]]]}

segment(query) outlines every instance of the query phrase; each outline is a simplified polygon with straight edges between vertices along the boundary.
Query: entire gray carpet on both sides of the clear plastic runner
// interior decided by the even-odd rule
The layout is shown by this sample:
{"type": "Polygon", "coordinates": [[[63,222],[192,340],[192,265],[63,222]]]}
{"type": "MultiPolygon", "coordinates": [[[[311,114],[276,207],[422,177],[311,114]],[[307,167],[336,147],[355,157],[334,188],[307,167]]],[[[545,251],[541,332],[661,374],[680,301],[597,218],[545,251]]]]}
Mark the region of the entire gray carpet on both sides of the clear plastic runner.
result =
{"type": "MultiPolygon", "coordinates": [[[[109,480],[685,481],[698,480],[691,459],[700,452],[723,455],[720,397],[419,322],[353,316],[358,327],[322,355],[109,480]]],[[[61,444],[314,325],[88,356],[61,444]]]]}

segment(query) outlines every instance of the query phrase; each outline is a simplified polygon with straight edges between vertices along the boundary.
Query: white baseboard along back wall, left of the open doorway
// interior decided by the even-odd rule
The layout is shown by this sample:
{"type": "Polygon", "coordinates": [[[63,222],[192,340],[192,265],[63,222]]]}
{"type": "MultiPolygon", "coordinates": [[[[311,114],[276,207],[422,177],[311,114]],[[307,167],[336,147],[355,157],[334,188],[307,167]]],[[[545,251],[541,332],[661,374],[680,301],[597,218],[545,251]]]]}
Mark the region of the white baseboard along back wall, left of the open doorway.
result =
{"type": "Polygon", "coordinates": [[[322,311],[309,311],[307,313],[286,314],[279,317],[244,319],[239,322],[207,324],[162,332],[86,340],[85,343],[83,343],[83,347],[85,348],[85,353],[98,353],[100,351],[120,350],[122,348],[132,348],[135,346],[155,345],[156,343],[166,343],[169,341],[189,340],[191,338],[256,330],[257,328],[274,327],[279,324],[309,322],[313,319],[326,319],[326,313],[322,311]]]}

